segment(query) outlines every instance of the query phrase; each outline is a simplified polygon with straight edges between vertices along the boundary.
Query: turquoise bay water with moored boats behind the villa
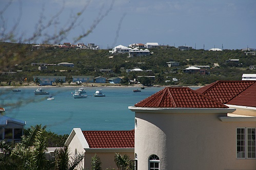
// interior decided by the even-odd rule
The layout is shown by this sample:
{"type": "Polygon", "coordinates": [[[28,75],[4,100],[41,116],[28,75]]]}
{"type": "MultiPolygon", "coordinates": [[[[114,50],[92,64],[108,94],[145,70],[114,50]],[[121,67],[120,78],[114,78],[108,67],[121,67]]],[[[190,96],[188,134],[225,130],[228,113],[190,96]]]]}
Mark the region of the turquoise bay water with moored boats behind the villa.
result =
{"type": "Polygon", "coordinates": [[[136,87],[84,87],[85,99],[74,99],[77,87],[42,87],[55,100],[47,101],[49,95],[35,95],[32,87],[0,88],[0,107],[5,115],[26,121],[25,128],[40,125],[57,134],[70,134],[73,128],[82,130],[132,130],[134,112],[128,109],[137,102],[164,87],[147,87],[142,92],[133,92],[136,87]],[[96,89],[102,89],[105,97],[94,97],[96,89]]]}

